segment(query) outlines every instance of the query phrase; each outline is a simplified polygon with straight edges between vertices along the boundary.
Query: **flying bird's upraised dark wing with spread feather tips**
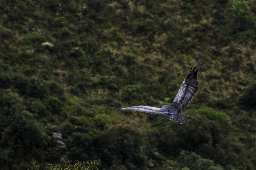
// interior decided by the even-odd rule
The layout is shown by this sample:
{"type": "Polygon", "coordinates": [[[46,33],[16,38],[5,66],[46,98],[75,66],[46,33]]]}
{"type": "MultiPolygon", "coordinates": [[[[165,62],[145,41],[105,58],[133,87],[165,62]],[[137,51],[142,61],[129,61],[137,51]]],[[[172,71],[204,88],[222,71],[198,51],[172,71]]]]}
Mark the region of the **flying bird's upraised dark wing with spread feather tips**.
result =
{"type": "Polygon", "coordinates": [[[179,92],[175,96],[173,102],[177,103],[182,109],[186,109],[188,102],[192,99],[195,93],[198,91],[197,72],[198,67],[191,67],[190,72],[184,79],[179,92]]]}

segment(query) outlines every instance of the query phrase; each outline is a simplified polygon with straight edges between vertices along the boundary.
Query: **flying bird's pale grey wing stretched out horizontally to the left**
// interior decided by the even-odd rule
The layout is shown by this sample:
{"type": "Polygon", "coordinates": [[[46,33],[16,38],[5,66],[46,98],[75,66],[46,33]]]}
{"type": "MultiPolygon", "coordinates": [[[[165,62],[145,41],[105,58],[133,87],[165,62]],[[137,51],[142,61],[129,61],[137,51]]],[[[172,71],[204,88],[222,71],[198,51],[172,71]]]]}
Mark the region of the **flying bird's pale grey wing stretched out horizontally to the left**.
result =
{"type": "Polygon", "coordinates": [[[167,111],[164,111],[160,108],[155,108],[150,106],[132,106],[132,107],[116,109],[116,110],[134,110],[134,111],[140,111],[140,112],[151,113],[151,114],[160,114],[160,115],[165,115],[166,113],[168,113],[167,111]]]}

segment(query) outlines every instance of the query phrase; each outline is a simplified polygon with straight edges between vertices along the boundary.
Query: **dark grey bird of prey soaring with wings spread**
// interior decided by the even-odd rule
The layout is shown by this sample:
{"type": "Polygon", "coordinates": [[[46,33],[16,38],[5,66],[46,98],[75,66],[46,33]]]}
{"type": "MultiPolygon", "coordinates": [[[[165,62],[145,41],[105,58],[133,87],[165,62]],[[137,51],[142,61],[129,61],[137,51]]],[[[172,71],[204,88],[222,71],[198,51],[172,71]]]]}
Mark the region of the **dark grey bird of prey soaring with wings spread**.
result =
{"type": "Polygon", "coordinates": [[[161,108],[155,108],[150,106],[132,106],[128,108],[116,109],[116,110],[135,110],[151,114],[160,114],[166,116],[168,119],[182,123],[191,119],[191,117],[181,115],[181,108],[186,109],[188,102],[192,99],[195,93],[198,91],[197,72],[198,66],[191,67],[190,72],[184,79],[181,87],[176,94],[172,104],[163,105],[161,108]]]}

